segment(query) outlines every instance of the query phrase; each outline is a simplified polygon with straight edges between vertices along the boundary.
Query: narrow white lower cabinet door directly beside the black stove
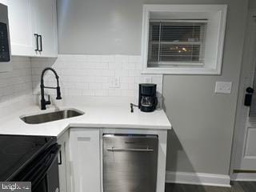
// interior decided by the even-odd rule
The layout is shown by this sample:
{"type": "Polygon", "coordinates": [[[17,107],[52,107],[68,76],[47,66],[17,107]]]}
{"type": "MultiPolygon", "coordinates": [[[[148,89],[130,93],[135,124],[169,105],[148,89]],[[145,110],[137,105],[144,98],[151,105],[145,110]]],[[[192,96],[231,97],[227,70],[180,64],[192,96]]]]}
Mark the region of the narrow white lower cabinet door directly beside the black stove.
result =
{"type": "Polygon", "coordinates": [[[60,192],[68,192],[68,181],[69,181],[69,133],[66,131],[61,138],[58,138],[58,144],[61,145],[61,152],[58,156],[58,178],[59,178],[59,189],[60,192]]]}

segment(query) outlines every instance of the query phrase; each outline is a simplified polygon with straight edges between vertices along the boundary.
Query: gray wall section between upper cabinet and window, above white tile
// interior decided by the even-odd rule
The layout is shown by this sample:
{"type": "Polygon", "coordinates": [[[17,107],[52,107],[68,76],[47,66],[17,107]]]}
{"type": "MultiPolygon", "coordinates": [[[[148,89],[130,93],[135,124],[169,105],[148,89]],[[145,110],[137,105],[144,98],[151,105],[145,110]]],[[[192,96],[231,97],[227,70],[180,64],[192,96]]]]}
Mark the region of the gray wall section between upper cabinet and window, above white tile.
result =
{"type": "Polygon", "coordinates": [[[141,0],[58,0],[60,54],[140,54],[141,0]]]}

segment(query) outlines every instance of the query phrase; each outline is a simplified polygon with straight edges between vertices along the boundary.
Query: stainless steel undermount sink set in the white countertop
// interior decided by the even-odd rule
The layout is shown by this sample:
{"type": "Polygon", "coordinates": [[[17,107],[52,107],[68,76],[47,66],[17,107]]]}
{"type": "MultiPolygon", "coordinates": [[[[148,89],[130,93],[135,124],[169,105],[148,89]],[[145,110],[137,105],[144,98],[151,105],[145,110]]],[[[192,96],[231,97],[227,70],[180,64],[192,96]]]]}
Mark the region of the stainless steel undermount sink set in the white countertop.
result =
{"type": "Polygon", "coordinates": [[[54,122],[64,118],[74,118],[84,114],[79,110],[58,110],[46,114],[34,114],[22,117],[22,121],[28,124],[39,124],[43,122],[54,122]]]}

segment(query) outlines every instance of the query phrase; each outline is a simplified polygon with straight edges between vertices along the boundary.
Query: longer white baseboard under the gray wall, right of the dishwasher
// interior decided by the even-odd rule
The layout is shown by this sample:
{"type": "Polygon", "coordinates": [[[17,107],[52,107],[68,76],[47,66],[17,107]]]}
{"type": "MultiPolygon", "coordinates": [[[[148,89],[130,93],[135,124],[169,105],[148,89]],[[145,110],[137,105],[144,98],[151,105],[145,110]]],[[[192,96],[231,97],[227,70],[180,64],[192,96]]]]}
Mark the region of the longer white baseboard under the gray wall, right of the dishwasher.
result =
{"type": "Polygon", "coordinates": [[[224,174],[202,174],[166,171],[166,182],[201,186],[230,187],[230,176],[224,174]]]}

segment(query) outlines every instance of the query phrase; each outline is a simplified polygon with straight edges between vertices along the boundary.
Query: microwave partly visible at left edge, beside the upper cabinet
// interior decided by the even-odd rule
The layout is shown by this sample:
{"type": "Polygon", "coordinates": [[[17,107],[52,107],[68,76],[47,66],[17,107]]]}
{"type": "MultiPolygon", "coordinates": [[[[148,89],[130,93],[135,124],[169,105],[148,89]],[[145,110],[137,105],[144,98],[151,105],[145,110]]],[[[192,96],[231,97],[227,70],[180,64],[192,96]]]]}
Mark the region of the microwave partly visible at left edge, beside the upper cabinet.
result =
{"type": "Polygon", "coordinates": [[[0,72],[11,70],[8,7],[0,3],[0,72]]]}

